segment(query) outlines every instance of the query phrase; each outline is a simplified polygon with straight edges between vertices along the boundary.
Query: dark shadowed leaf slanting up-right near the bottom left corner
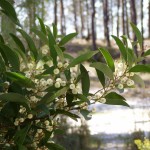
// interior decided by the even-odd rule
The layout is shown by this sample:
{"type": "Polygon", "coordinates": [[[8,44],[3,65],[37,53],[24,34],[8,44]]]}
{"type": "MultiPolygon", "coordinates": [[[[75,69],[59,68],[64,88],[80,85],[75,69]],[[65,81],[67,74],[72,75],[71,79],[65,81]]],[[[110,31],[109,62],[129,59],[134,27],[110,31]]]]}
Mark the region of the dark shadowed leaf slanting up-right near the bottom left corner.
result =
{"type": "Polygon", "coordinates": [[[15,136],[14,136],[14,142],[17,144],[17,145],[23,145],[24,143],[24,140],[27,136],[27,133],[30,129],[30,124],[27,125],[26,127],[24,127],[23,129],[20,129],[16,132],[15,136]]]}

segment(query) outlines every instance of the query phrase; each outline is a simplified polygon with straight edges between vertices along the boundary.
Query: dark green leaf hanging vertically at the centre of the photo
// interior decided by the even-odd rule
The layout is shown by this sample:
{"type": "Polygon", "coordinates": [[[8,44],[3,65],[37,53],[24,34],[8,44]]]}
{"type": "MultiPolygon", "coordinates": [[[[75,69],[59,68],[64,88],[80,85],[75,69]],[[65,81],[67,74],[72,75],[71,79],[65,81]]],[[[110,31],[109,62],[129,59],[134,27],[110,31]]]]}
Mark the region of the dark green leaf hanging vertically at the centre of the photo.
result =
{"type": "Polygon", "coordinates": [[[80,65],[81,72],[81,85],[82,85],[82,93],[87,96],[90,90],[90,77],[86,68],[81,64],[80,65]]]}

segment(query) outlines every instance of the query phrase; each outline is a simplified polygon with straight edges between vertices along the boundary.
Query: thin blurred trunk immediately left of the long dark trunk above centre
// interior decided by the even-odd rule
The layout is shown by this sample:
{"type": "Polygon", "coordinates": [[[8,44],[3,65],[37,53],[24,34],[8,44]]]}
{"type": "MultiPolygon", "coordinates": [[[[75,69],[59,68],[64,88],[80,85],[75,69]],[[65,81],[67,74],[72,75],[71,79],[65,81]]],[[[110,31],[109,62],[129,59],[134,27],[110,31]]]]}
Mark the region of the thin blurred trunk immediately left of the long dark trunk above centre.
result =
{"type": "Polygon", "coordinates": [[[87,37],[86,39],[89,40],[90,39],[90,26],[89,26],[89,4],[88,4],[88,0],[86,0],[86,26],[87,26],[87,37]]]}

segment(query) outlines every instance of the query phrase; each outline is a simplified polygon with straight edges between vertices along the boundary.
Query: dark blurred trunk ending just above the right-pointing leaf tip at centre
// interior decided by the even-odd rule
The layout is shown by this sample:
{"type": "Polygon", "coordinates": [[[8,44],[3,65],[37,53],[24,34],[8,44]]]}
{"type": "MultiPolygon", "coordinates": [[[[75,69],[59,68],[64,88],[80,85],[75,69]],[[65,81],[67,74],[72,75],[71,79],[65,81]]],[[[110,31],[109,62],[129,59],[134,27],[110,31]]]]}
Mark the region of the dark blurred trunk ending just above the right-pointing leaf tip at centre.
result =
{"type": "Polygon", "coordinates": [[[92,2],[92,49],[96,50],[96,33],[95,33],[95,0],[91,0],[92,2]]]}

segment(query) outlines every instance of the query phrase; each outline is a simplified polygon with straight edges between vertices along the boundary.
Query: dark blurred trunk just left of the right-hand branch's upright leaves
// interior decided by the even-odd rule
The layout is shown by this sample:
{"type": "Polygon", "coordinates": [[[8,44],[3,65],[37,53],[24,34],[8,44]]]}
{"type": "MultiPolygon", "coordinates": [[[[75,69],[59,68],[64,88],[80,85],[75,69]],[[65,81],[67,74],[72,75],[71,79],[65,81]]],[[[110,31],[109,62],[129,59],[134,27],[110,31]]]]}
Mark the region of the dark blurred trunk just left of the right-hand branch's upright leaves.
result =
{"type": "Polygon", "coordinates": [[[107,46],[110,46],[110,39],[109,39],[109,14],[108,14],[108,0],[103,0],[103,17],[104,17],[104,35],[107,41],[107,46]]]}

